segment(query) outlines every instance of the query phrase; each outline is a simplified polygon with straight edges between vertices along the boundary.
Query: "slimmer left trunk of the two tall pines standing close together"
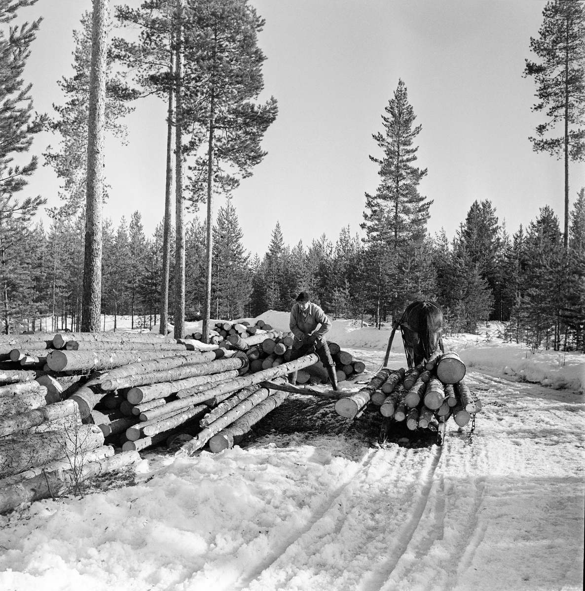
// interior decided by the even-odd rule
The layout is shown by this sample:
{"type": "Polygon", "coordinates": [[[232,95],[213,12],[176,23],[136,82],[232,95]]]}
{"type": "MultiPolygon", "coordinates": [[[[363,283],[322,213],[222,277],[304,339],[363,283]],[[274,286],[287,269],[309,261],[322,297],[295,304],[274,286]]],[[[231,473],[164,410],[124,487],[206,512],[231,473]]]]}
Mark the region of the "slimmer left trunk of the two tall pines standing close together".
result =
{"type": "MultiPolygon", "coordinates": [[[[175,76],[175,47],[171,35],[171,67],[169,67],[169,79],[175,76]]],[[[166,184],[165,184],[165,227],[162,238],[162,282],[160,285],[160,328],[159,333],[166,335],[166,327],[169,322],[169,275],[171,273],[171,216],[172,216],[172,189],[173,189],[173,141],[175,128],[175,90],[169,87],[169,106],[166,119],[166,184]]],[[[155,319],[156,324],[156,319],[155,319]]]]}

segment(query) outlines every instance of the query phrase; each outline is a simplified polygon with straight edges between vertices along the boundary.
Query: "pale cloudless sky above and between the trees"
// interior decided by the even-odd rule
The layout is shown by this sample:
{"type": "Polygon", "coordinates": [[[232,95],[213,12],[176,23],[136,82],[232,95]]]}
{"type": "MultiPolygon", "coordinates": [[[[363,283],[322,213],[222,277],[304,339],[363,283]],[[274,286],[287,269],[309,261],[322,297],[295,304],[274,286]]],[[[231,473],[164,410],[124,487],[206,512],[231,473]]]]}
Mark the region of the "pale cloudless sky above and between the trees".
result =
{"type": "MultiPolygon", "coordinates": [[[[137,6],[140,1],[129,0],[137,6]]],[[[549,204],[563,216],[563,162],[533,152],[529,135],[535,84],[522,71],[529,39],[538,34],[545,2],[534,0],[253,0],[266,19],[259,44],[266,57],[266,100],[279,114],[266,132],[268,155],[234,193],[246,249],[265,252],[280,222],[286,243],[305,245],[322,233],[333,242],[343,226],[359,232],[364,193],[378,184],[380,156],[372,134],[398,85],[407,86],[416,124],[417,165],[428,168],[420,192],[433,199],[430,232],[451,238],[474,200],[489,199],[515,232],[549,204]]],[[[114,3],[110,2],[113,8],[114,3]]],[[[25,69],[34,108],[64,102],[57,80],[70,76],[72,30],[90,0],[38,0],[17,22],[42,15],[25,69]]],[[[163,217],[165,105],[140,99],[128,116],[128,145],[108,139],[110,200],[104,215],[117,225],[134,210],[152,233],[163,217]]],[[[40,154],[58,139],[37,137],[40,154]]],[[[42,158],[41,158],[42,160],[42,158]]],[[[585,185],[583,164],[571,164],[570,200],[585,185]]],[[[30,193],[58,204],[59,180],[48,167],[30,193]]],[[[217,200],[217,207],[224,199],[217,200]]],[[[204,212],[200,213],[201,216],[204,212]]]]}

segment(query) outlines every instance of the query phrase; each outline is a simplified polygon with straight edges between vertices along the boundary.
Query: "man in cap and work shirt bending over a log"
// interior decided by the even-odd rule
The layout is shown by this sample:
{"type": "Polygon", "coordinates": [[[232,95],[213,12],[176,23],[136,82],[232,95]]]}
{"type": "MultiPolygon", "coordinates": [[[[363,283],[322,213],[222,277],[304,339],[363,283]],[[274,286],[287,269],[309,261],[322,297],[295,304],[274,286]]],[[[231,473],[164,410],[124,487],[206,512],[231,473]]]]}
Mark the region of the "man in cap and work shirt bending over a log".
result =
{"type": "MultiPolygon", "coordinates": [[[[306,291],[301,291],[296,301],[297,303],[291,309],[290,320],[290,328],[294,335],[291,361],[309,353],[317,353],[329,374],[333,389],[339,390],[335,363],[325,339],[326,333],[331,328],[331,321],[317,304],[311,303],[306,291]]],[[[297,383],[297,372],[289,376],[289,381],[291,384],[297,383]]]]}

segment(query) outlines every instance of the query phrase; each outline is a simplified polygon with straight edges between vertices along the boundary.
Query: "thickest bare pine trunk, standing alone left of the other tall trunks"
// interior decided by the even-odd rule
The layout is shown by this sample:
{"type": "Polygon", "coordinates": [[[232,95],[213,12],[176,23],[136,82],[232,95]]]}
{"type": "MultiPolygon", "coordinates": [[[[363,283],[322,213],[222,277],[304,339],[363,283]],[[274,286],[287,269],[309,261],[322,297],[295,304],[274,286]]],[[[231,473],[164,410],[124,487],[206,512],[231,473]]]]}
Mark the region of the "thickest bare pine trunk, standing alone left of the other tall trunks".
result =
{"type": "Polygon", "coordinates": [[[94,0],[91,70],[89,73],[85,256],[81,320],[83,332],[99,330],[101,309],[107,30],[108,0],[94,0]]]}

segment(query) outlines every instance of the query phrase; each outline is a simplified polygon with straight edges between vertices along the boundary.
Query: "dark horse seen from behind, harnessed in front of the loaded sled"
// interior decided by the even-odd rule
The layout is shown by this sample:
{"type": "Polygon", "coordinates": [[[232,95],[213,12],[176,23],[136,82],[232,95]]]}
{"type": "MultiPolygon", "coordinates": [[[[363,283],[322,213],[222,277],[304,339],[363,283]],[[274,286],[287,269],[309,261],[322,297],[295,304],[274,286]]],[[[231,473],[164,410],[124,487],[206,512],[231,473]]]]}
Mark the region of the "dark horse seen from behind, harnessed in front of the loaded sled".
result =
{"type": "Polygon", "coordinates": [[[409,368],[422,363],[439,347],[443,349],[443,311],[435,302],[429,300],[416,300],[404,310],[401,319],[394,325],[394,329],[388,339],[388,349],[384,358],[384,367],[387,366],[390,348],[396,329],[400,327],[404,343],[404,353],[409,368]]]}

